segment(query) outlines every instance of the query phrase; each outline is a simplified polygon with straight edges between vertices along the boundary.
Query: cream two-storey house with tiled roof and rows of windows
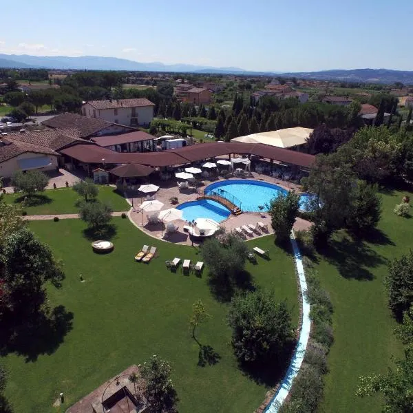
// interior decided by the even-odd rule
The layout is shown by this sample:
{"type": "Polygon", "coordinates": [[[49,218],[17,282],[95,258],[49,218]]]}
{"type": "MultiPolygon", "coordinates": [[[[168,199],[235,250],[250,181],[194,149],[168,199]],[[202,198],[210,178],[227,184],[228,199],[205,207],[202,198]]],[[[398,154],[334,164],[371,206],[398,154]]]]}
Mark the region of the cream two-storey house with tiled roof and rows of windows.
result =
{"type": "Polygon", "coordinates": [[[119,100],[89,100],[82,105],[82,114],[88,118],[106,120],[127,126],[147,126],[153,119],[153,107],[145,98],[119,100]]]}

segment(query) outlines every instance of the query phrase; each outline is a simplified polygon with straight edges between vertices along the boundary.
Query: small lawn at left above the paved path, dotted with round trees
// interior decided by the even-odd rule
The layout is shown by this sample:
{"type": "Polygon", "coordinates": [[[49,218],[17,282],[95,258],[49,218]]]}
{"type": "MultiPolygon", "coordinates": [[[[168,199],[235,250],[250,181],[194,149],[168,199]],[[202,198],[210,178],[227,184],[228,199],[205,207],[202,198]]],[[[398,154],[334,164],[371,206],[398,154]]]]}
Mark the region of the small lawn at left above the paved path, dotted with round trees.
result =
{"type": "MultiPolygon", "coordinates": [[[[20,203],[22,193],[11,193],[4,195],[3,199],[11,203],[20,203]]],[[[32,207],[24,207],[28,215],[52,215],[59,213],[78,213],[76,201],[79,199],[78,194],[72,188],[47,189],[39,195],[34,195],[34,202],[37,203],[32,207]]],[[[127,211],[129,204],[125,198],[114,191],[112,187],[99,187],[98,199],[111,205],[114,211],[127,211]]]]}

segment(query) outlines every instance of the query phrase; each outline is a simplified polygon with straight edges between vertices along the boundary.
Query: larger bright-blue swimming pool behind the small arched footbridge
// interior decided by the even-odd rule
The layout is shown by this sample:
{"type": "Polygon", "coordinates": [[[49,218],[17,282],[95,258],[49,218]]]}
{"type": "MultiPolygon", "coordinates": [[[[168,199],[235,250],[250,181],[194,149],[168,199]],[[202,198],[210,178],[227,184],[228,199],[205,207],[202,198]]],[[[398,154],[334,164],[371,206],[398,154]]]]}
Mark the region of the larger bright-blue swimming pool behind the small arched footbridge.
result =
{"type": "MultiPolygon", "coordinates": [[[[260,212],[260,205],[267,211],[266,204],[269,204],[273,198],[277,198],[279,193],[287,193],[287,190],[275,184],[256,180],[224,180],[214,182],[204,189],[208,194],[214,191],[220,193],[231,200],[242,211],[260,212]],[[222,190],[222,192],[221,192],[222,190]],[[232,198],[235,197],[235,198],[232,198]]],[[[307,211],[307,202],[309,195],[301,194],[300,209],[307,211]]]]}

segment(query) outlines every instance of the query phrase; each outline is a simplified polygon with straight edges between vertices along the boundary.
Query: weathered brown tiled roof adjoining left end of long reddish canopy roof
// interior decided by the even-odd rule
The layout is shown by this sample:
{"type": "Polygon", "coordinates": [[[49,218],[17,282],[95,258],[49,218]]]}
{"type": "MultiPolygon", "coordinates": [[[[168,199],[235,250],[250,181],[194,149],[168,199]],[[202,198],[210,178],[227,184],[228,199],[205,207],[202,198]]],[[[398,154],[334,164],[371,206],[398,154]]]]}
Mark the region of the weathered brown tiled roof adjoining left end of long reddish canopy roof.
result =
{"type": "Polygon", "coordinates": [[[73,143],[89,142],[79,137],[76,129],[25,131],[23,134],[9,134],[7,138],[27,144],[38,145],[58,151],[73,143]]]}

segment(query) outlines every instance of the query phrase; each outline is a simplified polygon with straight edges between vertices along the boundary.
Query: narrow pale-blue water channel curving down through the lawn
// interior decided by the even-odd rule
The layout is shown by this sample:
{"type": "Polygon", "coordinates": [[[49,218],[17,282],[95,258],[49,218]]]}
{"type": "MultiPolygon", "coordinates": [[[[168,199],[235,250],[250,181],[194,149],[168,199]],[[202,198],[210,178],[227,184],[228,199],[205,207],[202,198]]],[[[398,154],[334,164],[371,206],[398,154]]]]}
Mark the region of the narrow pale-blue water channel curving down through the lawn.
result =
{"type": "Polygon", "coordinates": [[[265,412],[268,413],[277,413],[279,407],[286,399],[286,396],[288,396],[288,392],[290,392],[291,386],[293,385],[293,380],[295,379],[295,377],[297,377],[299,368],[301,367],[301,363],[303,362],[304,354],[306,354],[308,338],[310,337],[310,304],[308,303],[306,298],[306,275],[304,274],[304,266],[303,262],[301,261],[301,253],[299,252],[299,248],[297,242],[295,241],[295,236],[293,232],[291,233],[290,241],[291,245],[293,246],[295,266],[297,267],[299,285],[301,287],[301,296],[303,301],[303,321],[301,325],[301,332],[299,335],[298,345],[293,355],[293,359],[291,359],[291,363],[290,366],[288,366],[286,376],[284,377],[281,385],[279,386],[277,393],[275,393],[273,400],[266,407],[265,412]]]}

